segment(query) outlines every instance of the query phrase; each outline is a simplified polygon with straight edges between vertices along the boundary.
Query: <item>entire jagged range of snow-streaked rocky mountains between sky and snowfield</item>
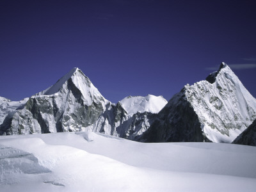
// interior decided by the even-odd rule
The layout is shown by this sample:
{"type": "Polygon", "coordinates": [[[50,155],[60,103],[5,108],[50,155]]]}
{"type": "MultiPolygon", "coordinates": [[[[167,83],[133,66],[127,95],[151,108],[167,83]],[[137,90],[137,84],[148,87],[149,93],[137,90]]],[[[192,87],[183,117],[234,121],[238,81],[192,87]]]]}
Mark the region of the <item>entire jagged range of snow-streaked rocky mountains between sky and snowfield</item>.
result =
{"type": "Polygon", "coordinates": [[[231,143],[256,118],[256,99],[224,62],[168,102],[147,95],[117,104],[75,67],[23,102],[1,97],[0,109],[0,134],[93,131],[145,142],[231,143]]]}

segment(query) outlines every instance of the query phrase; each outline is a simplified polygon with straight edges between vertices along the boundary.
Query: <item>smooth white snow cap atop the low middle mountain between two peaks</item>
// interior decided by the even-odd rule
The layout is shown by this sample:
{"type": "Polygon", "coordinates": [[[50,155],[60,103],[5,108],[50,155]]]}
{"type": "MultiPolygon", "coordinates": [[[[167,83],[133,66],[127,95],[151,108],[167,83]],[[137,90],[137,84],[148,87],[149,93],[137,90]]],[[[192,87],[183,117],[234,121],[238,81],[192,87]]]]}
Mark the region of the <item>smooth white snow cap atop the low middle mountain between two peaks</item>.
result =
{"type": "Polygon", "coordinates": [[[163,96],[147,95],[142,96],[129,96],[120,101],[125,111],[132,116],[135,113],[158,113],[166,104],[167,100],[163,96]]]}

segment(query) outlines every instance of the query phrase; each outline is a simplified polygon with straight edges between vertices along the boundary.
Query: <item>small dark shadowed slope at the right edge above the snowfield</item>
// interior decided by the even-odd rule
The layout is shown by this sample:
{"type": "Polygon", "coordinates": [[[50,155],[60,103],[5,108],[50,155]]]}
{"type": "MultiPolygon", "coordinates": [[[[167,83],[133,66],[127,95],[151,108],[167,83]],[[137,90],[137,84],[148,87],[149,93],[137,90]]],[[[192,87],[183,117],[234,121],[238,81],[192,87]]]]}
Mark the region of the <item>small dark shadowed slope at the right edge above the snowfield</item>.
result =
{"type": "Polygon", "coordinates": [[[256,146],[256,120],[244,132],[239,134],[232,143],[256,146]]]}

